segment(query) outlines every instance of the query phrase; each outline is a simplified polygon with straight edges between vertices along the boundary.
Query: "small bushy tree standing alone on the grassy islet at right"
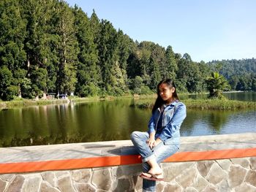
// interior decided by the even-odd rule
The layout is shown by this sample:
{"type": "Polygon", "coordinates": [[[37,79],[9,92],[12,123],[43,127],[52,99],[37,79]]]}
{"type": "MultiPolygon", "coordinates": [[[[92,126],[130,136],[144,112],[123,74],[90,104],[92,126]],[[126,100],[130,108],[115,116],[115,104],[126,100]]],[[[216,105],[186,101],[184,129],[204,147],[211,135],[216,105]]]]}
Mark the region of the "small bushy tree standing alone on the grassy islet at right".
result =
{"type": "Polygon", "coordinates": [[[224,98],[222,91],[230,89],[230,85],[227,80],[225,80],[225,77],[218,72],[212,72],[211,77],[206,79],[206,84],[208,91],[210,92],[209,98],[222,99],[224,98]]]}

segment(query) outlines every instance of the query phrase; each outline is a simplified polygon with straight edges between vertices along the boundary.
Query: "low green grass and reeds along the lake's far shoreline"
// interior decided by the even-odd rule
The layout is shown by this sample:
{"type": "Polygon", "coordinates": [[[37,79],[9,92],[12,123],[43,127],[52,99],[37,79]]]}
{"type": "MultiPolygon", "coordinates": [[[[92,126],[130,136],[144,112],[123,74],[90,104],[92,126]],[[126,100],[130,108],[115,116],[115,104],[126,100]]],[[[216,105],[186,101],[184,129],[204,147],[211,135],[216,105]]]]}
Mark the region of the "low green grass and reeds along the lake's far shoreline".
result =
{"type": "MultiPolygon", "coordinates": [[[[204,93],[206,94],[206,93],[204,93]]],[[[192,94],[180,93],[180,96],[188,96],[192,94]]],[[[69,104],[90,101],[111,101],[116,99],[135,99],[135,104],[131,107],[140,109],[152,109],[154,101],[145,101],[145,99],[155,99],[156,94],[151,95],[127,95],[127,96],[105,96],[105,97],[70,97],[69,99],[50,99],[37,101],[31,99],[20,99],[13,101],[0,101],[0,109],[11,109],[15,107],[41,106],[48,104],[69,104]]],[[[255,110],[256,102],[253,101],[237,101],[229,99],[181,99],[186,104],[187,109],[197,110],[255,110]]]]}

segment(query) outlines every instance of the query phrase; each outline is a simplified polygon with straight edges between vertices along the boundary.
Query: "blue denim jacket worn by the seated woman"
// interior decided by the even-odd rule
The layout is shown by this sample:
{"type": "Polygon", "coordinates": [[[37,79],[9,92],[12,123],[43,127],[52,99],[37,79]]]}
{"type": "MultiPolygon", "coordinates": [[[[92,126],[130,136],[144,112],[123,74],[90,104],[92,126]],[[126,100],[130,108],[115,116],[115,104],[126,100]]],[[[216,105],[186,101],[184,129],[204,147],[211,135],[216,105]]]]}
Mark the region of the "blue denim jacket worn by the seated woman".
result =
{"type": "MultiPolygon", "coordinates": [[[[154,111],[148,122],[148,133],[156,132],[157,123],[161,114],[160,109],[154,111]]],[[[162,132],[156,134],[156,138],[162,140],[165,145],[179,144],[181,123],[186,118],[186,106],[179,102],[164,105],[162,116],[162,132]]]]}

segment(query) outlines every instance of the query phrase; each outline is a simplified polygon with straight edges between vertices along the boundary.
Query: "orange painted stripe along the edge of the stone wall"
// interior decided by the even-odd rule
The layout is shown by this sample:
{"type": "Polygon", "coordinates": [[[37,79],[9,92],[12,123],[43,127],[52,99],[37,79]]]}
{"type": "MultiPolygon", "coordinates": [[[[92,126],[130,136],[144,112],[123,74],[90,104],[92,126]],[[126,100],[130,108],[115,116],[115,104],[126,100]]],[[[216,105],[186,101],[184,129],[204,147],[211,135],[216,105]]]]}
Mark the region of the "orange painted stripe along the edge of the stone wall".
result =
{"type": "MultiPolygon", "coordinates": [[[[165,162],[203,161],[223,158],[244,158],[252,156],[256,156],[256,148],[179,152],[165,159],[165,162]]],[[[85,169],[101,166],[118,166],[140,163],[140,155],[119,155],[54,161],[18,162],[0,164],[0,174],[64,169],[85,169]]]]}

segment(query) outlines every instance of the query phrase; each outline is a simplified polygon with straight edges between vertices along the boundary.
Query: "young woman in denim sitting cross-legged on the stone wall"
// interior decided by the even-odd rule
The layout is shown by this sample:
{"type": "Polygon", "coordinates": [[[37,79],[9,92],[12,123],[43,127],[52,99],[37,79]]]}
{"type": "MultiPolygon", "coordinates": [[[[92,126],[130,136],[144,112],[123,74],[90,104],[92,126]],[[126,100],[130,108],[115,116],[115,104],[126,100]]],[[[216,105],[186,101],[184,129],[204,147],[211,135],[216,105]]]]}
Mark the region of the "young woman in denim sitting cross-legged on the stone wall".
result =
{"type": "Polygon", "coordinates": [[[186,118],[186,106],[178,100],[173,80],[157,85],[157,100],[148,123],[148,132],[134,131],[133,145],[143,162],[143,191],[155,191],[156,181],[164,180],[159,164],[178,151],[181,123],[186,118]]]}

